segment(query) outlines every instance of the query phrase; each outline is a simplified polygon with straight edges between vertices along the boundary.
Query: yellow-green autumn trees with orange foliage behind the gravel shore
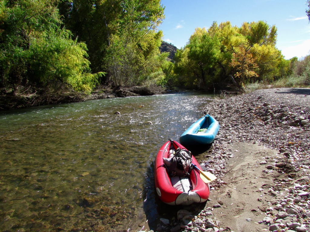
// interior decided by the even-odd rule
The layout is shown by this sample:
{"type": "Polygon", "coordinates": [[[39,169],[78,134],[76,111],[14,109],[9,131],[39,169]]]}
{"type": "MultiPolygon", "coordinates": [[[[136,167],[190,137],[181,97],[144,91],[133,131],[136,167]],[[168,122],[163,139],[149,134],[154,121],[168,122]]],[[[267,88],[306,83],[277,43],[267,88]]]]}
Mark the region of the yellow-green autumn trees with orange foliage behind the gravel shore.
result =
{"type": "Polygon", "coordinates": [[[223,88],[233,83],[245,92],[268,86],[310,84],[308,57],[286,60],[276,47],[277,28],[264,21],[229,21],[196,28],[188,43],[175,55],[174,74],[179,84],[192,88],[223,88]]]}

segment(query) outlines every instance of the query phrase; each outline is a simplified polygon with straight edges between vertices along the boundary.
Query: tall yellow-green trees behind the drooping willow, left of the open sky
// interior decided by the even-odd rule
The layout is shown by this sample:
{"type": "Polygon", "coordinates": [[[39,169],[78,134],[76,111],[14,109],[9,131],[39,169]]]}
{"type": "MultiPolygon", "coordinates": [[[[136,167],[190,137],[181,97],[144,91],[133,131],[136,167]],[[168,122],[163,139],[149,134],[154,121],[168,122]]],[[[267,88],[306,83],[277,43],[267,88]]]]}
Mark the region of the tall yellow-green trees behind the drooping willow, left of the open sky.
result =
{"type": "Polygon", "coordinates": [[[59,8],[67,28],[87,44],[92,70],[107,71],[116,86],[141,84],[160,72],[160,0],[63,0],[59,8]]]}

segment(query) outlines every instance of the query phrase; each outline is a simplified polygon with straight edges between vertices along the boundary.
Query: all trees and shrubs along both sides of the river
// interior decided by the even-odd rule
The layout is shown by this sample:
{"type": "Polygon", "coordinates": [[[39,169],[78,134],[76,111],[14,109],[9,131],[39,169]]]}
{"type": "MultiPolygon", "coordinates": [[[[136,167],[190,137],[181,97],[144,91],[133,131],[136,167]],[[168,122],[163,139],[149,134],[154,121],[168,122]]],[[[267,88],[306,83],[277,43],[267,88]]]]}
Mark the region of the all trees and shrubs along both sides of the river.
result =
{"type": "Polygon", "coordinates": [[[127,96],[135,86],[153,94],[309,85],[310,58],[286,60],[275,25],[213,22],[171,60],[159,50],[163,19],[160,0],[1,0],[0,109],[127,96]]]}

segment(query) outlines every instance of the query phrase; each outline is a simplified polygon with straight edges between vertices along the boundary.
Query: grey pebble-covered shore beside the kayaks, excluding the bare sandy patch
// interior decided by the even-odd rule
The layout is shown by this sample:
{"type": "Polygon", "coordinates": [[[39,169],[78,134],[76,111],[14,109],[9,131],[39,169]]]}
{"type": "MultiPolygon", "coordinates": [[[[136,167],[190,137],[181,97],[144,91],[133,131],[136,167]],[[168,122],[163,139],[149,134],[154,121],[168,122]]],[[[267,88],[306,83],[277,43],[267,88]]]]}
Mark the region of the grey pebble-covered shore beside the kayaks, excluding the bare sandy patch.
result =
{"type": "MultiPolygon", "coordinates": [[[[257,161],[254,160],[252,178],[269,178],[273,186],[268,186],[269,190],[265,191],[263,188],[266,184],[263,184],[256,191],[262,193],[259,195],[261,198],[255,199],[261,206],[250,211],[256,212],[256,218],[261,219],[252,221],[246,218],[245,221],[254,222],[257,231],[310,231],[310,89],[257,90],[215,100],[202,111],[215,117],[220,124],[219,134],[212,147],[202,154],[208,160],[203,161],[201,167],[218,178],[216,183],[212,183],[211,191],[223,189],[234,179],[233,176],[227,178],[229,159],[238,158],[238,150],[232,149],[234,144],[244,143],[249,148],[259,145],[272,149],[277,153],[273,157],[266,156],[266,152],[262,153],[265,156],[257,154],[252,157],[254,160],[259,155],[257,161]],[[278,175],[277,179],[275,174],[278,175]],[[269,198],[263,201],[263,196],[269,198]]],[[[215,217],[215,212],[216,216],[219,215],[216,209],[225,204],[221,201],[216,203],[211,207],[206,204],[200,212],[190,208],[180,210],[174,222],[161,218],[156,231],[232,231],[215,217]]],[[[239,217],[237,208],[231,215],[226,215],[226,218],[229,217],[239,217]]],[[[249,231],[245,228],[240,231],[249,231]]]]}

